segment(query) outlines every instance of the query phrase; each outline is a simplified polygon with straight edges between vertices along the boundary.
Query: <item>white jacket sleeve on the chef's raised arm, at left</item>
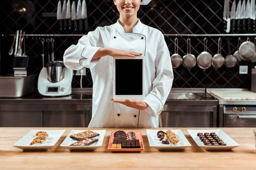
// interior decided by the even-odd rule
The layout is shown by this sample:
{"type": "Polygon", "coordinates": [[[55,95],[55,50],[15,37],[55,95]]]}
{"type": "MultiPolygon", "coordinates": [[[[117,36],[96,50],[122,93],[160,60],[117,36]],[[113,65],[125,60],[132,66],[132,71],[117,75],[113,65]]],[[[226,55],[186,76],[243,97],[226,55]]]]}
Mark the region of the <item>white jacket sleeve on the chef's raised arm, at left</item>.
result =
{"type": "Polygon", "coordinates": [[[92,60],[94,54],[103,46],[99,27],[80,38],[76,45],[71,45],[64,53],[64,65],[72,70],[83,67],[93,68],[99,59],[92,60]]]}

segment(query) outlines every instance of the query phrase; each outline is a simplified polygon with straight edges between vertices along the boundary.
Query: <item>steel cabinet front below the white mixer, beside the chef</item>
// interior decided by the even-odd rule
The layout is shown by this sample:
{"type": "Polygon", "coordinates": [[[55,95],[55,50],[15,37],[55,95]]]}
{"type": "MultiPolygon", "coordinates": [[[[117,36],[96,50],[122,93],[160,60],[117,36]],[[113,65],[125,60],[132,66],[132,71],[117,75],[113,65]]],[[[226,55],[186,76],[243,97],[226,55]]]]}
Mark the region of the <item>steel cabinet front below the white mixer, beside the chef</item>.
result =
{"type": "Polygon", "coordinates": [[[43,111],[44,127],[88,127],[90,111],[43,111]]]}

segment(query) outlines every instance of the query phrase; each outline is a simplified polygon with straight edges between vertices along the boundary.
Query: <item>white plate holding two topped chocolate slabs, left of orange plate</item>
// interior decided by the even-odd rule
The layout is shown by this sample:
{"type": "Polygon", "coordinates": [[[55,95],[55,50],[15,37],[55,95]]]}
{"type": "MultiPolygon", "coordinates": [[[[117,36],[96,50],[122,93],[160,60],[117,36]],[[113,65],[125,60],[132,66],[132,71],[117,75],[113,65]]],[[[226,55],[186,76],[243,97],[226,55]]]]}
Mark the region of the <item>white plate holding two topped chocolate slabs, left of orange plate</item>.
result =
{"type": "Polygon", "coordinates": [[[78,142],[77,140],[70,138],[70,135],[81,133],[84,131],[87,130],[71,130],[65,140],[60,145],[60,147],[64,147],[68,150],[95,150],[96,148],[102,146],[106,130],[91,130],[93,132],[99,133],[99,136],[94,137],[93,139],[98,139],[98,141],[90,144],[89,146],[70,146],[70,144],[78,142]]]}

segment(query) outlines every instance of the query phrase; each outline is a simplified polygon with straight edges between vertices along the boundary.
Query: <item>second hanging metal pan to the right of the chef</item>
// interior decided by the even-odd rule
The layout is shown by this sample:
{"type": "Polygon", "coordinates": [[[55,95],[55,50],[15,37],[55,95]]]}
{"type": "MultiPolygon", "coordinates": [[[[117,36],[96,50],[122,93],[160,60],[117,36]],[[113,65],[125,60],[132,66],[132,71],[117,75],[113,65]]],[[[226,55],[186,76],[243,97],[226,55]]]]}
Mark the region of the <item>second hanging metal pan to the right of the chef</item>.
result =
{"type": "Polygon", "coordinates": [[[196,65],[196,58],[191,54],[190,38],[187,39],[187,54],[183,56],[182,60],[182,65],[189,70],[196,65]]]}

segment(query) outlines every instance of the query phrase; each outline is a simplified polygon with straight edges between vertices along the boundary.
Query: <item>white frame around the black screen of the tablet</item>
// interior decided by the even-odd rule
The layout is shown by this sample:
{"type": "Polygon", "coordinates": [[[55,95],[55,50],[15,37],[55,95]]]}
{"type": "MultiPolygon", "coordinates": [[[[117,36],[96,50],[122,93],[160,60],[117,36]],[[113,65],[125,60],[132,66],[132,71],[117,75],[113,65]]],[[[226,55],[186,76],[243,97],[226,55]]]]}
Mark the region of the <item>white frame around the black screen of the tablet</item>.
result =
{"type": "Polygon", "coordinates": [[[145,56],[113,57],[113,99],[114,100],[143,100],[145,99],[145,56]],[[116,59],[142,59],[142,95],[116,95],[116,59]]]}

